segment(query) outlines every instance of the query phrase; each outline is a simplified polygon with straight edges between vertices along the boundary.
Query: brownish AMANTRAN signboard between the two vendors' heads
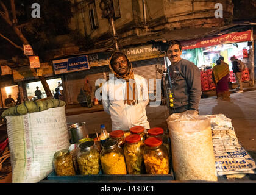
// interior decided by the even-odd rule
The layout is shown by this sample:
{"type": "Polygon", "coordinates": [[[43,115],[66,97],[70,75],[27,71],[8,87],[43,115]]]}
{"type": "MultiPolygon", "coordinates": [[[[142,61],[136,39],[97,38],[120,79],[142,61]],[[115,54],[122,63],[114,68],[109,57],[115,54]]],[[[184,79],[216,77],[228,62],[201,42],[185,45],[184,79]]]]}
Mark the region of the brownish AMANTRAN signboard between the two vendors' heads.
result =
{"type": "Polygon", "coordinates": [[[136,48],[123,49],[122,52],[127,55],[130,61],[154,59],[163,57],[160,46],[146,45],[136,48]]]}

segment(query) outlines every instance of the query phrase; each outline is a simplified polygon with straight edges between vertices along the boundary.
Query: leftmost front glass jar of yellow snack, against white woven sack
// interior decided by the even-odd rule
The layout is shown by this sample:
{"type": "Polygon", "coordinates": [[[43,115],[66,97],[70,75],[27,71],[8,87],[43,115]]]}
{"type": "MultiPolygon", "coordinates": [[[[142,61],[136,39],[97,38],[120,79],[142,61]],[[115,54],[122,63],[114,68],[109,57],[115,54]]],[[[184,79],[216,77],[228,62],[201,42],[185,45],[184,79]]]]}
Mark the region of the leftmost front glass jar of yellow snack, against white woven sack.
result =
{"type": "Polygon", "coordinates": [[[68,149],[55,152],[53,163],[57,176],[74,176],[76,174],[72,156],[68,149]]]}

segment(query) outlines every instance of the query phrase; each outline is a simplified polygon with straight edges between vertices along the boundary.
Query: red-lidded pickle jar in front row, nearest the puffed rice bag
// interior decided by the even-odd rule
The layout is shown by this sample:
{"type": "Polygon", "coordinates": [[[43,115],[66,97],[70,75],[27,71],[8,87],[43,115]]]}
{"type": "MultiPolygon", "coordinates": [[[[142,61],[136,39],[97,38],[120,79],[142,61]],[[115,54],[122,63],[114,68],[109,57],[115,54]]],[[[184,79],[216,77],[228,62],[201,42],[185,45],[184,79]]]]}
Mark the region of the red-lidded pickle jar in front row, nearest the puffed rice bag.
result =
{"type": "Polygon", "coordinates": [[[169,174],[168,151],[157,137],[145,140],[143,159],[147,174],[169,174]]]}

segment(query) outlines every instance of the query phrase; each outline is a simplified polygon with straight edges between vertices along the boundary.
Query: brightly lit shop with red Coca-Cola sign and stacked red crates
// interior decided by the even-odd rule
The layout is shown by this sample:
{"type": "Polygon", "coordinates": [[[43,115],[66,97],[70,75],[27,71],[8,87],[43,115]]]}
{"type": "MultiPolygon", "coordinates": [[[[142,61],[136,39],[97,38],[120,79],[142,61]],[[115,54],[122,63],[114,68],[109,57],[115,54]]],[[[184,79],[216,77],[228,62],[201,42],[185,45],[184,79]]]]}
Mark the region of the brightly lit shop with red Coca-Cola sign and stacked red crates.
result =
{"type": "MultiPolygon", "coordinates": [[[[231,32],[216,37],[207,37],[197,40],[182,41],[182,57],[190,60],[201,69],[201,76],[209,79],[207,82],[202,83],[202,91],[215,89],[212,81],[212,68],[216,65],[216,60],[220,56],[224,57],[224,62],[229,65],[230,69],[230,82],[234,83],[235,77],[233,76],[232,63],[230,57],[235,55],[236,59],[241,60],[247,64],[249,44],[253,43],[252,30],[242,32],[231,32]],[[203,71],[207,71],[204,73],[203,71]]],[[[253,44],[252,44],[253,45],[253,44]]],[[[249,80],[249,73],[246,69],[243,73],[242,81],[249,80]]],[[[202,80],[201,77],[201,81],[202,80]]]]}

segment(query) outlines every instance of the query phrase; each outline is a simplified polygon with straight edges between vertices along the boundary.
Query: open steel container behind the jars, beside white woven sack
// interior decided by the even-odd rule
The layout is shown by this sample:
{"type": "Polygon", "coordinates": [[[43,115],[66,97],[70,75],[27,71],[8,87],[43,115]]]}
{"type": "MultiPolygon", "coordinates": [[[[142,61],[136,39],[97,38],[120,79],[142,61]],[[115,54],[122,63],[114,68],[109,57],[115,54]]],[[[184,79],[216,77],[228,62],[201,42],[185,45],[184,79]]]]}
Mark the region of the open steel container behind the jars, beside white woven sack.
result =
{"type": "Polygon", "coordinates": [[[72,144],[79,143],[79,140],[89,137],[85,123],[79,122],[68,126],[68,133],[72,144]]]}

